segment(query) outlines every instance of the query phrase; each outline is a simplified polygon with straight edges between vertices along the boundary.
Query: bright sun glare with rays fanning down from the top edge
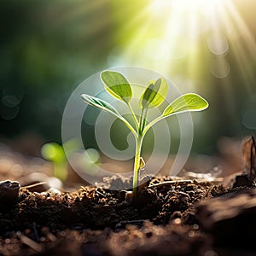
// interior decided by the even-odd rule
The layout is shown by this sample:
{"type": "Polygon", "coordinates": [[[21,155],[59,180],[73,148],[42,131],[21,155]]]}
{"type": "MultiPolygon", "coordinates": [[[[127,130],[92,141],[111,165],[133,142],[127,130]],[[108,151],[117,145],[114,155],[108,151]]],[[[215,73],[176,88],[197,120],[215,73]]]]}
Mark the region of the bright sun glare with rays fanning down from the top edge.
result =
{"type": "Polygon", "coordinates": [[[147,3],[119,30],[119,38],[124,40],[122,53],[119,55],[118,49],[113,49],[110,65],[130,62],[170,76],[183,73],[184,79],[190,81],[198,80],[201,73],[227,79],[232,70],[227,54],[232,50],[245,84],[252,84],[252,69],[247,60],[256,57],[255,40],[235,0],[147,3]]]}

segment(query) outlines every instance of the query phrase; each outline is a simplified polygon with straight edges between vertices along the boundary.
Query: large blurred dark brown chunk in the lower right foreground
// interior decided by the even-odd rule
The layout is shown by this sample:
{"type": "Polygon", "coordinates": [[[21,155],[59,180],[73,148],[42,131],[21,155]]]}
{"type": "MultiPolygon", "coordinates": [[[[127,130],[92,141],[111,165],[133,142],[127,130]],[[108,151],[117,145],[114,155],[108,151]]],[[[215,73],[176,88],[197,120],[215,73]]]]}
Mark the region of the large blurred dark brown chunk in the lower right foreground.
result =
{"type": "Polygon", "coordinates": [[[212,234],[217,246],[256,249],[255,188],[202,201],[197,211],[202,229],[212,234]]]}

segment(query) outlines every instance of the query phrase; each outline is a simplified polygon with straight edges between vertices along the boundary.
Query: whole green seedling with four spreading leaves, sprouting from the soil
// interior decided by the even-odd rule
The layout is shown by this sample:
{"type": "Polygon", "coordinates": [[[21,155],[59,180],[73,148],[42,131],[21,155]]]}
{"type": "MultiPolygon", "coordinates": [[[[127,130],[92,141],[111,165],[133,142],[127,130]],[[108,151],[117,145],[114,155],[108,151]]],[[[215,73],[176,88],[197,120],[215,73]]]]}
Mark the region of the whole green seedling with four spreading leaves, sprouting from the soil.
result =
{"type": "Polygon", "coordinates": [[[125,119],[125,117],[123,117],[108,102],[86,94],[82,95],[82,99],[84,102],[90,104],[91,106],[101,108],[105,111],[108,111],[108,113],[115,115],[128,127],[128,129],[134,135],[136,140],[136,152],[133,166],[133,193],[136,195],[139,171],[144,166],[144,161],[141,157],[143,138],[145,137],[149,128],[159,122],[161,119],[165,119],[166,117],[169,117],[173,114],[204,110],[208,107],[208,102],[195,93],[184,94],[169,104],[159,117],[148,123],[148,109],[159,107],[160,104],[166,99],[168,91],[168,84],[166,79],[160,78],[148,82],[147,88],[144,90],[143,95],[140,97],[139,105],[141,108],[141,114],[138,118],[131,108],[132,89],[128,80],[125,79],[121,73],[108,70],[101,73],[101,79],[105,90],[107,90],[108,93],[114,98],[124,102],[125,105],[130,109],[134,124],[131,125],[131,123],[129,123],[129,121],[125,119]]]}

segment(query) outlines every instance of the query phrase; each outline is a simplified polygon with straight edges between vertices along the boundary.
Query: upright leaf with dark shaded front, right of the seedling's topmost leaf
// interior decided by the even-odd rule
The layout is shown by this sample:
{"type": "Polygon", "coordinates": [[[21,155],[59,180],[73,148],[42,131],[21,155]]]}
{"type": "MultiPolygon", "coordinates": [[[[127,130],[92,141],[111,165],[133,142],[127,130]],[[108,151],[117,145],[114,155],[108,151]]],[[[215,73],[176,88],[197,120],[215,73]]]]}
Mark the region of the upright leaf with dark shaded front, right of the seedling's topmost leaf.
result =
{"type": "Polygon", "coordinates": [[[150,81],[148,87],[143,92],[140,99],[141,108],[156,108],[164,102],[168,91],[166,79],[150,81]]]}

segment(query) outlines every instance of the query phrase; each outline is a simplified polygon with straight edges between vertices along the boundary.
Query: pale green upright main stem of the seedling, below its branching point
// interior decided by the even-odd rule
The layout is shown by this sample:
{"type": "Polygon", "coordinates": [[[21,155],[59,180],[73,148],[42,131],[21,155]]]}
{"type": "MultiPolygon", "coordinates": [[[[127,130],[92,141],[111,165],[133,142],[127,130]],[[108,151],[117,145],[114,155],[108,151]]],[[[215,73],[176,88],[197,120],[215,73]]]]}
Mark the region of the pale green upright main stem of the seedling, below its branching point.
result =
{"type": "Polygon", "coordinates": [[[137,195],[142,145],[143,145],[143,137],[139,136],[136,140],[136,152],[135,152],[135,159],[134,159],[134,166],[133,166],[133,195],[134,196],[137,195]]]}

